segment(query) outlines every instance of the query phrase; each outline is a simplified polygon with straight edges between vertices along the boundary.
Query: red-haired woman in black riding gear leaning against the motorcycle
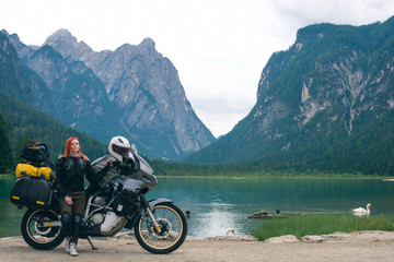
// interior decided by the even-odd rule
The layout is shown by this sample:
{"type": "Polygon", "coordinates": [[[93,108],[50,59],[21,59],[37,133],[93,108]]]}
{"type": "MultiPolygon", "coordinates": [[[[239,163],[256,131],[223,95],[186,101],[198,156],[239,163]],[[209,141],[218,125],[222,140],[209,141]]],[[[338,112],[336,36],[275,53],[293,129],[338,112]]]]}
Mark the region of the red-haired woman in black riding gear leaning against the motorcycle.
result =
{"type": "Polygon", "coordinates": [[[65,155],[56,162],[55,187],[60,193],[61,223],[66,235],[66,252],[77,257],[77,242],[81,231],[82,214],[86,195],[83,188],[84,176],[90,182],[95,178],[86,156],[81,153],[77,138],[66,142],[65,155]]]}

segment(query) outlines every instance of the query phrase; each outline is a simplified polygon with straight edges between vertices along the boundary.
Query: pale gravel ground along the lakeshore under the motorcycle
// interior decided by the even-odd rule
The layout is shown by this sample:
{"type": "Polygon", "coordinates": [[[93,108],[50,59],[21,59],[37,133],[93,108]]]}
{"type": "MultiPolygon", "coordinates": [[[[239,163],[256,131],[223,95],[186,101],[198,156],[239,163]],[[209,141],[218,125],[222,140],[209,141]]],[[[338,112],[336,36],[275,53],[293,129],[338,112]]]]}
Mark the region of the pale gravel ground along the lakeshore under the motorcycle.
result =
{"type": "Polygon", "coordinates": [[[393,262],[394,233],[359,231],[308,236],[301,241],[293,236],[252,241],[245,237],[187,239],[170,254],[151,254],[128,236],[94,240],[92,250],[86,240],[78,243],[79,257],[72,258],[62,245],[49,251],[34,250],[22,237],[0,238],[1,261],[361,261],[393,262]]]}

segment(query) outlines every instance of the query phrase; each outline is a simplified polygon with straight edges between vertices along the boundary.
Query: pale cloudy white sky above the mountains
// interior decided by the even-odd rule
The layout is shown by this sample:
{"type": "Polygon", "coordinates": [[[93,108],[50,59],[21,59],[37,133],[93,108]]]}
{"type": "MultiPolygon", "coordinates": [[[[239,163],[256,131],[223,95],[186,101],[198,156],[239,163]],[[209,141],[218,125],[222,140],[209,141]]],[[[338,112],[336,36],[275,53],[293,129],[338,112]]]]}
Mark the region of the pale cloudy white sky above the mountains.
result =
{"type": "Polygon", "coordinates": [[[299,28],[394,15],[394,0],[1,0],[0,7],[0,29],[26,45],[40,46],[60,28],[94,51],[152,38],[215,136],[247,116],[269,57],[287,50],[299,28]]]}

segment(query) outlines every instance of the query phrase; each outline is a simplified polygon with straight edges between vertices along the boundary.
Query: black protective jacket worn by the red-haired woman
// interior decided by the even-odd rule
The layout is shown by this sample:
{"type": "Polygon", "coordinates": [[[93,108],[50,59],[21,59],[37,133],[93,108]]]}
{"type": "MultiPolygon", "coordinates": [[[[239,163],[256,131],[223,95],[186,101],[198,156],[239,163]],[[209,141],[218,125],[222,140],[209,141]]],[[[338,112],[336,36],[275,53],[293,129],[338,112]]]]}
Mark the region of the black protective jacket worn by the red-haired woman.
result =
{"type": "Polygon", "coordinates": [[[62,198],[65,198],[68,192],[81,192],[84,190],[83,181],[85,176],[89,182],[95,182],[106,174],[107,169],[108,168],[103,168],[95,172],[91,163],[83,160],[82,157],[61,157],[56,162],[55,188],[62,198]]]}

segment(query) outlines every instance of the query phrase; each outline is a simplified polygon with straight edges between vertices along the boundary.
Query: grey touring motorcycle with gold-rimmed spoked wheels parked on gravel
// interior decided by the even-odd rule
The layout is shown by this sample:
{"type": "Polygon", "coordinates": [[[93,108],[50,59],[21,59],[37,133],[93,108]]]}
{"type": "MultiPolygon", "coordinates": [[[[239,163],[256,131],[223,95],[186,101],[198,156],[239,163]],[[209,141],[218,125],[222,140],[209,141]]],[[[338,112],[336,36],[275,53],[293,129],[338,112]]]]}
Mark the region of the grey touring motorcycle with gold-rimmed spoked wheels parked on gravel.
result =
{"type": "MultiPolygon", "coordinates": [[[[173,252],[186,239],[186,216],[171,200],[146,200],[146,193],[157,187],[158,180],[135,146],[130,154],[137,168],[119,166],[120,175],[104,177],[100,187],[86,187],[80,238],[88,239],[92,249],[96,249],[91,237],[113,237],[124,228],[134,228],[137,241],[147,251],[173,252]]],[[[54,189],[48,209],[28,209],[23,215],[22,237],[34,249],[50,250],[65,239],[58,198],[54,189]]]]}

